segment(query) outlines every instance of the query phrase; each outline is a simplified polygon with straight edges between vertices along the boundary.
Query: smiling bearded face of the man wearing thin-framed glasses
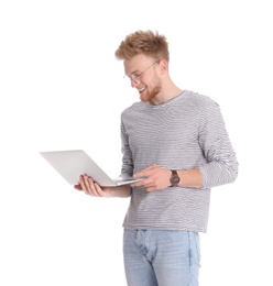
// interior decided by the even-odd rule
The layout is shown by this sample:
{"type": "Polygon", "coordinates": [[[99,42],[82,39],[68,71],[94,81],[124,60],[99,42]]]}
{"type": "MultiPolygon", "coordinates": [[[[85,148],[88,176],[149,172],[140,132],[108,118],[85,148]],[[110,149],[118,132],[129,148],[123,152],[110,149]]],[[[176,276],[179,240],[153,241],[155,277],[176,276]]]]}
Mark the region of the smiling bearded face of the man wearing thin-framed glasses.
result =
{"type": "Polygon", "coordinates": [[[125,75],[131,80],[131,86],[138,89],[141,101],[151,101],[162,89],[157,65],[159,62],[145,55],[124,61],[125,75]]]}

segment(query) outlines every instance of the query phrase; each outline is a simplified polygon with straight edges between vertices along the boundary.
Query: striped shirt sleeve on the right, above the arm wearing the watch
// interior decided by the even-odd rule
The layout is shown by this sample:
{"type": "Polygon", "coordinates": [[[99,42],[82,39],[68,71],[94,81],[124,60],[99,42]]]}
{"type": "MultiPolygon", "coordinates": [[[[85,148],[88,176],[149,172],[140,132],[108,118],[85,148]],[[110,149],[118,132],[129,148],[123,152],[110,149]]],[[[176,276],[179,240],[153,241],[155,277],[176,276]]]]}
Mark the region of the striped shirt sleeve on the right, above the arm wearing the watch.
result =
{"type": "Polygon", "coordinates": [[[238,176],[238,161],[220,108],[212,100],[201,111],[199,144],[207,160],[207,164],[199,166],[203,188],[234,182],[238,176]]]}

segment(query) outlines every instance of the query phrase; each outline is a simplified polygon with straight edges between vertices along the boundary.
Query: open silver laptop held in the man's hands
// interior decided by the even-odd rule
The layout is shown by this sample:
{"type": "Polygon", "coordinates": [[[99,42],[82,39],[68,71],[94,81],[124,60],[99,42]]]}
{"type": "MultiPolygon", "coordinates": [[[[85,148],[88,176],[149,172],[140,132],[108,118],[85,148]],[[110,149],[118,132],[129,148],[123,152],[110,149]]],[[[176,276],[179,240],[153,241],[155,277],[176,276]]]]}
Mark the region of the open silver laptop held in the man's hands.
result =
{"type": "Polygon", "coordinates": [[[70,185],[79,183],[79,176],[87,174],[100,186],[121,186],[144,179],[133,177],[109,177],[83,150],[47,151],[40,154],[63,176],[70,185]]]}

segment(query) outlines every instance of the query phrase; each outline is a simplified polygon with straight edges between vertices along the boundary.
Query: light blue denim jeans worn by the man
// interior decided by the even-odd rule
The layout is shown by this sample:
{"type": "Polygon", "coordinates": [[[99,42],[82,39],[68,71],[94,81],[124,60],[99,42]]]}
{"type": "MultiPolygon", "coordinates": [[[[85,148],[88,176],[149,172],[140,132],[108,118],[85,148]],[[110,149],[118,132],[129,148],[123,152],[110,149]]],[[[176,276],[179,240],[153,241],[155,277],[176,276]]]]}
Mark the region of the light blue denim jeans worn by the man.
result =
{"type": "Polygon", "coordinates": [[[129,286],[198,286],[197,232],[125,229],[123,256],[129,286]]]}

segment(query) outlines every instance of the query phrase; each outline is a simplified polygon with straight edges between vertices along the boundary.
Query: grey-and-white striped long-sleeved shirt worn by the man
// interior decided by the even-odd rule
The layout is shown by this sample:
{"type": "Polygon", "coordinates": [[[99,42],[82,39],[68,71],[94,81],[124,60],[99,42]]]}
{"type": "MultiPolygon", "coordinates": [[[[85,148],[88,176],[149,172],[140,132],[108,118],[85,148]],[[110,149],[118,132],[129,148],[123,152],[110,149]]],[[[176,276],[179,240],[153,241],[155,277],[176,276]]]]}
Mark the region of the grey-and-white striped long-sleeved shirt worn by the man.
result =
{"type": "MultiPolygon", "coordinates": [[[[219,106],[185,90],[159,106],[135,102],[121,113],[122,174],[153,164],[166,169],[199,167],[203,188],[132,188],[123,227],[207,231],[210,188],[233,182],[236,153],[219,106]]],[[[181,178],[183,182],[183,177],[181,178]]]]}

